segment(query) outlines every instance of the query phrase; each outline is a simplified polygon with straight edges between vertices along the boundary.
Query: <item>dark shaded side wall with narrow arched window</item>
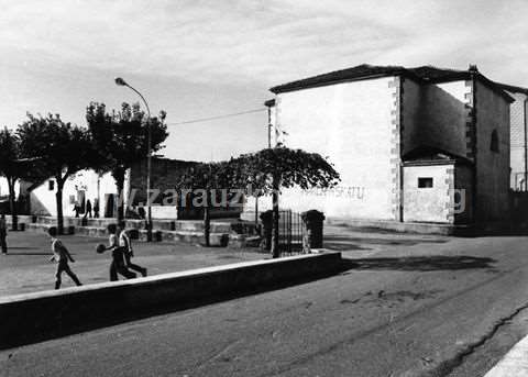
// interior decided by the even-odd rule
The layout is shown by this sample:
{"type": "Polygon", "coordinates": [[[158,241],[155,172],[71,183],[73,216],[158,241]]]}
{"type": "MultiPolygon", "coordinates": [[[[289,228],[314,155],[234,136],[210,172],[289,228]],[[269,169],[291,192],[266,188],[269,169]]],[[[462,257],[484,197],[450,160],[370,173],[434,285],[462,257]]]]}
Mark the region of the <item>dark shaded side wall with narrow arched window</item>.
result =
{"type": "Polygon", "coordinates": [[[508,217],[509,209],[509,103],[476,81],[476,221],[508,217]],[[497,130],[499,152],[492,152],[497,130]]]}

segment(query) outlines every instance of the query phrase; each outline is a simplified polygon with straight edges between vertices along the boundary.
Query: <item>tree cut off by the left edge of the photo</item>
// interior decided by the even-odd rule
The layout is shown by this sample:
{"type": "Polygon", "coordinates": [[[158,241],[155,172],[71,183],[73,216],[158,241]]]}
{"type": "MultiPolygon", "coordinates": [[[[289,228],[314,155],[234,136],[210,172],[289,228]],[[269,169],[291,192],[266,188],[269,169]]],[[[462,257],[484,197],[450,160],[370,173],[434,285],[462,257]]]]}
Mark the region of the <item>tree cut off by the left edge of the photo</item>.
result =
{"type": "Polygon", "coordinates": [[[18,229],[14,184],[22,178],[20,138],[8,127],[0,131],[0,174],[6,177],[9,188],[9,210],[11,212],[11,226],[18,229]]]}

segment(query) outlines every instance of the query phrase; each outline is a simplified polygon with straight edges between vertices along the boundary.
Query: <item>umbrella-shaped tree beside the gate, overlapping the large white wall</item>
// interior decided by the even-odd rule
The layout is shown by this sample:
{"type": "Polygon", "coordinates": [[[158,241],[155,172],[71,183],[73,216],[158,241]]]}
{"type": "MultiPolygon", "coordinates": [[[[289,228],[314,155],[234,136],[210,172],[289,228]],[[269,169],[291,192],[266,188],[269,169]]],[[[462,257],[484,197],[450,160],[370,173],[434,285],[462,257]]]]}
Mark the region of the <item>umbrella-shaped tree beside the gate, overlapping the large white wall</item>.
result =
{"type": "MultiPolygon", "coordinates": [[[[273,199],[272,254],[278,251],[278,198],[280,188],[298,186],[301,189],[330,188],[339,180],[339,173],[321,155],[284,146],[245,154],[235,159],[235,180],[246,182],[248,195],[271,193],[273,199]]],[[[233,168],[232,168],[233,169],[233,168]]]]}

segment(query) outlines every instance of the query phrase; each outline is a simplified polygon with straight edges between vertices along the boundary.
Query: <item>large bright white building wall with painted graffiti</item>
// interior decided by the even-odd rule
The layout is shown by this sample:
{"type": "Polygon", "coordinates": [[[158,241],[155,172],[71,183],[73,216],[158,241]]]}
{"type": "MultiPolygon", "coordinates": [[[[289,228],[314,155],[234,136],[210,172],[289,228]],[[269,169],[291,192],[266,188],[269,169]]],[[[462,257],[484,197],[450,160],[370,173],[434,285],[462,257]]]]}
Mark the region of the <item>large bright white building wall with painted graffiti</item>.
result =
{"type": "Polygon", "coordinates": [[[319,209],[331,218],[394,219],[395,90],[389,77],[277,96],[285,145],[328,156],[342,179],[330,191],[285,190],[282,207],[319,209]]]}

